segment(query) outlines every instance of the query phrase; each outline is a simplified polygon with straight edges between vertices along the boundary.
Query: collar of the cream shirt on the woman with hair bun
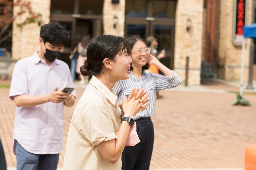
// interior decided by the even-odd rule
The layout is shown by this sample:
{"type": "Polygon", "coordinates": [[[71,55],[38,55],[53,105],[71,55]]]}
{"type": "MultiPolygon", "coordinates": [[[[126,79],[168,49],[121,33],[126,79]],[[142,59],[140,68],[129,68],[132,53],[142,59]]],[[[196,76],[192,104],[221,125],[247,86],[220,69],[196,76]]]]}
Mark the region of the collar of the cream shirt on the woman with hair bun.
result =
{"type": "Polygon", "coordinates": [[[97,88],[112,104],[116,104],[117,96],[113,89],[110,91],[107,86],[105,86],[99,79],[97,79],[94,75],[90,80],[90,83],[97,88]]]}

